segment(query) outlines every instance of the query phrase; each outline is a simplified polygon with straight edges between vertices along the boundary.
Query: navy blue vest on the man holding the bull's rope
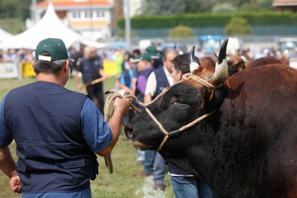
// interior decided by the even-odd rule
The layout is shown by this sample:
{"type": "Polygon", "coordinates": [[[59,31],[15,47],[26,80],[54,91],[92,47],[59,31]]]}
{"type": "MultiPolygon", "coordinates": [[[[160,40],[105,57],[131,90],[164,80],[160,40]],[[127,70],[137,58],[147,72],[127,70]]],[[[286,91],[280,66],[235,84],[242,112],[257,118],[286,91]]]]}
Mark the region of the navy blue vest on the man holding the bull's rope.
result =
{"type": "Polygon", "coordinates": [[[9,92],[4,117],[17,145],[22,193],[90,187],[99,164],[81,132],[80,110],[86,97],[42,81],[9,92]]]}

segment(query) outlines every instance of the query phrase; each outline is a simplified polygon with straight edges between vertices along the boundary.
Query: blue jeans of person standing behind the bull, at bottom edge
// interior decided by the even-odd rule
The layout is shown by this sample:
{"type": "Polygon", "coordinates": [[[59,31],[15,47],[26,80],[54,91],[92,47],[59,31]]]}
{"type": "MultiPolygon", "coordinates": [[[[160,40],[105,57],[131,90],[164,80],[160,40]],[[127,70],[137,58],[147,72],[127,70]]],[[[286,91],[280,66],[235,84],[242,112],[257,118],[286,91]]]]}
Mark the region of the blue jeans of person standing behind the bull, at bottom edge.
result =
{"type": "Polygon", "coordinates": [[[176,198],[215,198],[207,184],[195,177],[169,175],[169,179],[176,198]]]}

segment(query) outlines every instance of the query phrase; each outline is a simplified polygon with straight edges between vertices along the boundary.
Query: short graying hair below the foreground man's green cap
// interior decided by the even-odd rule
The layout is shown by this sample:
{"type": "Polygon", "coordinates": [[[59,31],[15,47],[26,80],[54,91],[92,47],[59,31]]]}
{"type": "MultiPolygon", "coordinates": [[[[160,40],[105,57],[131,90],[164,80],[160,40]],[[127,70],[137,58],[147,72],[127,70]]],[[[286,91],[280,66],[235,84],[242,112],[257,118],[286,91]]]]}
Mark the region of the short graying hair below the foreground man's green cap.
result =
{"type": "MultiPolygon", "coordinates": [[[[50,53],[46,51],[42,51],[39,53],[41,56],[50,56],[50,53]]],[[[36,57],[38,58],[38,57],[36,57]]],[[[63,68],[63,65],[66,63],[67,59],[65,60],[58,60],[58,61],[44,61],[35,59],[33,62],[34,70],[36,74],[45,73],[45,74],[59,74],[60,70],[63,68]]]]}

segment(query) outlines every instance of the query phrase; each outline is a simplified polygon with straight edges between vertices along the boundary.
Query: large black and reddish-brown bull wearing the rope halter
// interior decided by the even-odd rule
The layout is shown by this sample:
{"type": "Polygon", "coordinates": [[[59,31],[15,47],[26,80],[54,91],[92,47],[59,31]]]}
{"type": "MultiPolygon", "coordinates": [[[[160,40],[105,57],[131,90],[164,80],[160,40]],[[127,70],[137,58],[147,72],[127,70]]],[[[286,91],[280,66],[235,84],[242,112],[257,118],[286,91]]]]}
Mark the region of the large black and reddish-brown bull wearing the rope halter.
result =
{"type": "MultiPolygon", "coordinates": [[[[169,137],[159,153],[204,180],[217,197],[296,198],[297,71],[271,64],[227,80],[227,42],[216,68],[199,66],[194,58],[190,62],[197,68],[192,74],[220,87],[185,80],[147,107],[168,132],[214,111],[169,137]]],[[[193,51],[190,56],[195,57],[193,51]]],[[[145,110],[125,134],[142,150],[156,150],[165,137],[145,110]]]]}

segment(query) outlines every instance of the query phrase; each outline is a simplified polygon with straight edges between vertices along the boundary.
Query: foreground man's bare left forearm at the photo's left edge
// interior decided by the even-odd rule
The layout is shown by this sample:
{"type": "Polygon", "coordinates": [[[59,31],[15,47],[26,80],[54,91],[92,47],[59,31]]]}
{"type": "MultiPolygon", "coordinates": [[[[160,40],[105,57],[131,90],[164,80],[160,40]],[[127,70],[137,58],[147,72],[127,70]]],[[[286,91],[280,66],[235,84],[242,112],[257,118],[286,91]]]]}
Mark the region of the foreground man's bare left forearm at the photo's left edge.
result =
{"type": "Polygon", "coordinates": [[[15,161],[13,161],[8,146],[0,146],[0,169],[9,177],[16,175],[15,161]]]}

